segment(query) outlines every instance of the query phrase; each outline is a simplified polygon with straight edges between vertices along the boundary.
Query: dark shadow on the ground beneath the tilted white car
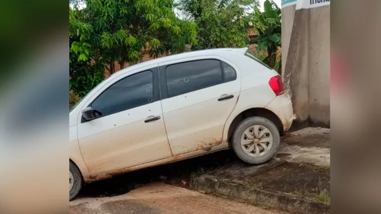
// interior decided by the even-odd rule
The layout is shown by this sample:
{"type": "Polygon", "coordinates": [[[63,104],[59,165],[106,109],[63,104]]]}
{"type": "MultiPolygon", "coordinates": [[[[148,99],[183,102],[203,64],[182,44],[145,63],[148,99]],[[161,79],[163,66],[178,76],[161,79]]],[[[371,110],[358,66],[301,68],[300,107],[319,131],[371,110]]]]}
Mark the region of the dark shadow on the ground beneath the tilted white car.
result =
{"type": "Polygon", "coordinates": [[[117,196],[156,181],[190,188],[191,177],[219,169],[235,161],[239,159],[231,149],[219,151],[90,183],[84,186],[78,197],[117,196]]]}

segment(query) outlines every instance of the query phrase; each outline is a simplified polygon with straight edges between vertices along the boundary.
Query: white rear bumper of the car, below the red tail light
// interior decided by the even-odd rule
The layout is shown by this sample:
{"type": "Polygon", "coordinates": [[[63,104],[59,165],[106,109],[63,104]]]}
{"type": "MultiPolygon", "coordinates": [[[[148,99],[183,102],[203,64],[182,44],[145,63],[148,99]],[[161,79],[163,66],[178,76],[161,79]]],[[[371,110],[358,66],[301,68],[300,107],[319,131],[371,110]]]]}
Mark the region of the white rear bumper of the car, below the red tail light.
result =
{"type": "Polygon", "coordinates": [[[282,122],[284,131],[288,131],[291,128],[292,122],[296,119],[296,115],[293,113],[291,99],[285,94],[274,98],[265,108],[278,116],[282,122]]]}

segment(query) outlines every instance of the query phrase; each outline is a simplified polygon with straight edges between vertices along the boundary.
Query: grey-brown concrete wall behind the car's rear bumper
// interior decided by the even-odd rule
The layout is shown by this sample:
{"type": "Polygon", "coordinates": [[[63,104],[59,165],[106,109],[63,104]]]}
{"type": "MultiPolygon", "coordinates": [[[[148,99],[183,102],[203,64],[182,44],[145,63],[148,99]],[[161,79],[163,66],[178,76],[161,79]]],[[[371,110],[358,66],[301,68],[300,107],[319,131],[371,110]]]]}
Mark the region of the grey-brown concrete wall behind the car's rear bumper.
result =
{"type": "Polygon", "coordinates": [[[330,5],[310,8],[311,2],[282,8],[282,74],[296,124],[329,127],[330,5]]]}

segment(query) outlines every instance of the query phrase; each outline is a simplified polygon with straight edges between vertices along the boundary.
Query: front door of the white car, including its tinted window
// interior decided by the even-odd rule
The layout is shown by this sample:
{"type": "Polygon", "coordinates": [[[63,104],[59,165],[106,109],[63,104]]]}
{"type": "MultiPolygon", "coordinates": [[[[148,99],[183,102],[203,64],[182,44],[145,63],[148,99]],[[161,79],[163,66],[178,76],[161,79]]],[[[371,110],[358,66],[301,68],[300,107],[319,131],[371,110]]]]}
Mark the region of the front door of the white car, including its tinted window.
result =
{"type": "Polygon", "coordinates": [[[172,156],[159,93],[155,67],[116,77],[84,106],[102,114],[91,121],[82,118],[78,125],[79,145],[91,175],[172,156]]]}

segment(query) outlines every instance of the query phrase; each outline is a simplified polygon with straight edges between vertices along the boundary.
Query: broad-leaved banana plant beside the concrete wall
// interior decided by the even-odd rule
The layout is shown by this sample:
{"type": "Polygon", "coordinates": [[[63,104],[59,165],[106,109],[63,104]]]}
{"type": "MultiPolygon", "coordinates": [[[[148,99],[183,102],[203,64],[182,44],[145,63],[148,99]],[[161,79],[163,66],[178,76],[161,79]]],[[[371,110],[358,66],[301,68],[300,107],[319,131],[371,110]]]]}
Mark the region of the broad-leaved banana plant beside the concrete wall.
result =
{"type": "Polygon", "coordinates": [[[281,8],[273,0],[266,0],[264,12],[261,12],[258,6],[254,7],[252,20],[258,34],[254,44],[258,45],[258,51],[267,51],[263,62],[279,72],[281,62],[277,61],[277,51],[282,41],[281,8]]]}

